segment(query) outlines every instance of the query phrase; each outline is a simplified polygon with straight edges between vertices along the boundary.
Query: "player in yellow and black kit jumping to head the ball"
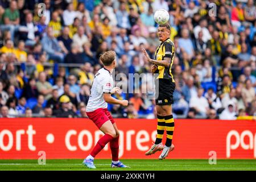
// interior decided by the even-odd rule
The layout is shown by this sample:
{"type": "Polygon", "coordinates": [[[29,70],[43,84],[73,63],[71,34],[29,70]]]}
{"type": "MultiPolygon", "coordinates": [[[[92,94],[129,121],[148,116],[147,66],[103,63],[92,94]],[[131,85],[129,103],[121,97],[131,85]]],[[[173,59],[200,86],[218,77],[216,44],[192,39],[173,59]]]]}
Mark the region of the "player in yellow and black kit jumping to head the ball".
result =
{"type": "Polygon", "coordinates": [[[161,24],[158,27],[158,36],[161,41],[160,46],[155,51],[155,59],[148,56],[145,49],[142,49],[147,60],[154,64],[151,68],[155,76],[156,88],[156,112],[158,117],[157,136],[155,143],[146,155],[154,154],[156,151],[162,151],[159,159],[164,159],[168,153],[174,150],[172,136],[174,134],[174,118],[172,116],[172,104],[174,104],[175,81],[171,73],[171,67],[174,63],[175,46],[170,39],[170,24],[161,24]],[[164,130],[166,130],[167,139],[163,146],[162,139],[164,130]]]}

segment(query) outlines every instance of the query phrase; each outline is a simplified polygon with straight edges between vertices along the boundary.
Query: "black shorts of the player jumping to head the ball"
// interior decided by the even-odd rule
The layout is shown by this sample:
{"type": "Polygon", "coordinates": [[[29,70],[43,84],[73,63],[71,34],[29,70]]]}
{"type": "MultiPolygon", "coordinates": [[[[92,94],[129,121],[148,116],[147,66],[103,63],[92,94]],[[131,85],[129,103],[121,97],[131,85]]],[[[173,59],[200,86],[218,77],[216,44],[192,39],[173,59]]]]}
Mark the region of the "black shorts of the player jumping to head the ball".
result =
{"type": "Polygon", "coordinates": [[[155,80],[155,104],[172,105],[174,104],[175,82],[169,79],[155,80]],[[158,84],[157,84],[158,81],[158,84]]]}

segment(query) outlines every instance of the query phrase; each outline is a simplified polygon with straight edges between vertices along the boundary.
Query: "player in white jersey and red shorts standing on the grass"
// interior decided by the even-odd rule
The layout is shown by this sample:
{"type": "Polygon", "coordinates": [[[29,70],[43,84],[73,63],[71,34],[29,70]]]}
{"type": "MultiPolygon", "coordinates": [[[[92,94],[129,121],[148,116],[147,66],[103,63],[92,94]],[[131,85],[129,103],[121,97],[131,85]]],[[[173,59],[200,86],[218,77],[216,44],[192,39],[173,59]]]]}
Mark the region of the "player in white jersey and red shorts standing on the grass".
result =
{"type": "Polygon", "coordinates": [[[82,164],[88,168],[96,168],[93,163],[95,156],[110,142],[112,152],[111,167],[124,168],[127,166],[119,162],[118,159],[119,131],[107,107],[108,103],[127,106],[128,101],[117,100],[111,96],[111,94],[121,91],[118,87],[113,88],[114,81],[111,73],[116,65],[115,52],[105,52],[101,55],[100,60],[104,68],[101,68],[94,77],[92,89],[90,90],[90,98],[86,106],[86,114],[105,135],[98,140],[96,146],[93,148],[92,152],[90,152],[90,155],[84,159],[82,164]]]}

